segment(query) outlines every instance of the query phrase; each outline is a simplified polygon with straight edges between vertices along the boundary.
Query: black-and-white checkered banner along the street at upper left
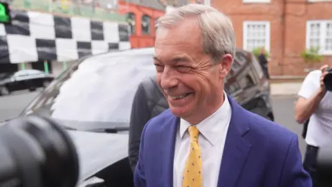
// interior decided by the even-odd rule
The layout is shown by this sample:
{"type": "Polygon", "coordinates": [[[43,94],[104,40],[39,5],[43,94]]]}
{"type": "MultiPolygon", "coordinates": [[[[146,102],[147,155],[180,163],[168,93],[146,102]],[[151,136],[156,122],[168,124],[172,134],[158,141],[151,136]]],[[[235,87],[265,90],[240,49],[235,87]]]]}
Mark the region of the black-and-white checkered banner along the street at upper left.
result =
{"type": "Polygon", "coordinates": [[[0,24],[0,63],[61,62],[131,48],[127,24],[23,10],[10,13],[12,24],[0,24]]]}

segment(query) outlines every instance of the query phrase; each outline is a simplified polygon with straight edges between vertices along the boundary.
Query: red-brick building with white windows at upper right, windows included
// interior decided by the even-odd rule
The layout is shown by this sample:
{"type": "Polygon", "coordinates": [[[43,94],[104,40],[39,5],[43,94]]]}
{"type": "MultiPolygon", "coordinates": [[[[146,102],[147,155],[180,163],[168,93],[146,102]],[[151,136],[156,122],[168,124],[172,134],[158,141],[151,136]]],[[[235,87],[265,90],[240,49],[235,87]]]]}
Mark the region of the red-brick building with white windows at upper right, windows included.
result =
{"type": "Polygon", "coordinates": [[[308,64],[300,53],[320,46],[322,64],[332,66],[331,0],[211,0],[234,24],[237,46],[263,45],[270,52],[273,76],[304,76],[308,64]],[[331,12],[330,12],[331,11],[331,12]]]}

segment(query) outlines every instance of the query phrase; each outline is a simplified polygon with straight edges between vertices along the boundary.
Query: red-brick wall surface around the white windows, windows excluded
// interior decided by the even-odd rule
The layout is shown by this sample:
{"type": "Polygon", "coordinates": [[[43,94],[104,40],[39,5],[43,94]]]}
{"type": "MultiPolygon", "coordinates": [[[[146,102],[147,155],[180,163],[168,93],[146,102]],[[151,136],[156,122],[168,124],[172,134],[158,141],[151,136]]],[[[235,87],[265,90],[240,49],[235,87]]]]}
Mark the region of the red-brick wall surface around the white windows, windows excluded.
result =
{"type": "MultiPolygon", "coordinates": [[[[243,21],[270,21],[269,70],[271,75],[306,75],[309,66],[299,56],[306,47],[306,21],[332,19],[332,1],[271,0],[270,3],[243,3],[242,0],[214,0],[212,6],[232,19],[237,46],[243,48],[243,21]]],[[[332,57],[322,64],[332,66],[332,57]]],[[[316,64],[317,67],[322,64],[316,64]]]]}

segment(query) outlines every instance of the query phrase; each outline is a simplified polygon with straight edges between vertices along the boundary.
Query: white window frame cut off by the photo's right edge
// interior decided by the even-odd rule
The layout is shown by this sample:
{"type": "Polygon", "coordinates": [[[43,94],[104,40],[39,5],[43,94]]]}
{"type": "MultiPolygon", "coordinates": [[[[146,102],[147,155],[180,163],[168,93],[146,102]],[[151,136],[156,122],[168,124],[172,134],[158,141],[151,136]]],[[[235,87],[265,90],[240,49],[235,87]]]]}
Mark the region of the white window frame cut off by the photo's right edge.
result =
{"type": "Polygon", "coordinates": [[[332,55],[332,50],[325,50],[324,47],[324,39],[326,37],[326,23],[332,22],[332,19],[323,19],[323,20],[308,20],[306,21],[306,48],[310,48],[310,26],[311,24],[320,24],[320,51],[321,55],[332,55]]]}

